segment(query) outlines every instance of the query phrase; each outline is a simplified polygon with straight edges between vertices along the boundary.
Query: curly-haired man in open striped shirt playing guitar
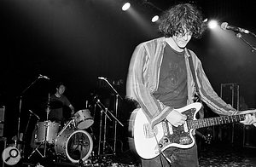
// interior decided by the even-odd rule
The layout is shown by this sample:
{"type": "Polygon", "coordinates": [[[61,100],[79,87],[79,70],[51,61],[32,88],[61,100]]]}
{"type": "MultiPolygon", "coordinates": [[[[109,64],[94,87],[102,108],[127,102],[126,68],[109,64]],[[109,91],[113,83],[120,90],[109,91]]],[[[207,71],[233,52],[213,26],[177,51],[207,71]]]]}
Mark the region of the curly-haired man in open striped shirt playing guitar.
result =
{"type": "MultiPolygon", "coordinates": [[[[163,37],[140,43],[131,57],[126,83],[127,98],[137,101],[153,128],[167,120],[177,127],[187,116],[175,108],[193,102],[195,82],[189,66],[189,56],[201,101],[219,115],[232,115],[237,111],[226,104],[212,89],[202,68],[201,60],[186,48],[191,37],[203,32],[201,11],[189,3],[177,4],[160,18],[159,31],[163,37]]],[[[243,124],[253,124],[256,118],[247,115],[243,124]]],[[[255,124],[256,125],[256,124],[255,124]]],[[[143,167],[198,166],[197,146],[181,149],[167,148],[160,156],[142,159],[143,167]]]]}

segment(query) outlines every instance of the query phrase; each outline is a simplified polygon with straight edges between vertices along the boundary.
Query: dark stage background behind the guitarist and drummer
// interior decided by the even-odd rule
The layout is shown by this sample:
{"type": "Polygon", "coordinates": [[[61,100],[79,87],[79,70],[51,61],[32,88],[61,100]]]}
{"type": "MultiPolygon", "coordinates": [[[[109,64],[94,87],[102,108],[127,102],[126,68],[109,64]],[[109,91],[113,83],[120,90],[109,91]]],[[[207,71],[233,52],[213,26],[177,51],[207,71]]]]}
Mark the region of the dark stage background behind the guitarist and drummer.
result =
{"type": "MultiPolygon", "coordinates": [[[[55,83],[59,81],[67,84],[65,95],[76,111],[85,108],[85,101],[90,102],[93,111],[94,95],[113,111],[113,90],[98,77],[108,78],[125,98],[125,79],[133,50],[138,43],[160,37],[150,17],[173,3],[177,1],[133,0],[131,11],[123,12],[122,2],[117,0],[1,0],[0,102],[6,107],[4,135],[10,138],[17,133],[20,96],[20,130],[24,130],[28,109],[45,117],[48,95],[55,93],[55,83]],[[37,79],[39,74],[50,79],[37,79]]],[[[193,3],[202,8],[208,20],[226,21],[256,32],[253,0],[193,3]]],[[[243,36],[255,45],[253,37],[243,36]]],[[[256,54],[234,32],[220,30],[216,34],[207,30],[188,48],[201,59],[217,93],[220,83],[237,83],[247,105],[255,107],[256,54]]],[[[127,136],[131,111],[128,101],[119,100],[118,118],[125,124],[124,128],[118,126],[119,139],[127,136]]],[[[31,126],[35,124],[35,118],[32,119],[31,126]]],[[[93,127],[97,129],[97,125],[95,122],[93,127]]]]}

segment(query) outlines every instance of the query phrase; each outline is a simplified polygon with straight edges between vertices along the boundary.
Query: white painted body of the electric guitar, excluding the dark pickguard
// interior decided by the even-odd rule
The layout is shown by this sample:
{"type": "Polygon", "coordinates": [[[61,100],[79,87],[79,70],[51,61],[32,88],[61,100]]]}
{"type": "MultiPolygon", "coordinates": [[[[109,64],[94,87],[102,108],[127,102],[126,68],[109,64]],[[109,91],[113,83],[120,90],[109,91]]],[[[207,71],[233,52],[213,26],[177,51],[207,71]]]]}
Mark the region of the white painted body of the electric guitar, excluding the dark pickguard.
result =
{"type": "MultiPolygon", "coordinates": [[[[176,109],[178,112],[184,112],[191,108],[195,109],[195,113],[198,112],[201,109],[201,103],[196,102],[193,104],[190,104],[186,107],[182,107],[179,109],[176,109]]],[[[133,114],[136,114],[133,122],[133,137],[134,137],[134,144],[136,151],[138,155],[141,158],[154,158],[160,154],[160,152],[166,150],[168,147],[179,147],[179,148],[189,148],[194,146],[195,139],[194,137],[191,137],[192,141],[190,141],[188,144],[179,144],[183,141],[168,143],[168,144],[162,144],[162,147],[159,147],[160,141],[167,140],[163,139],[165,135],[173,135],[172,131],[172,124],[166,123],[166,122],[160,122],[159,124],[156,124],[154,126],[154,130],[150,127],[148,123],[148,119],[143,113],[143,110],[136,109],[133,114]],[[166,130],[166,126],[168,126],[169,130],[166,130]],[[168,134],[166,134],[168,133],[168,134]]],[[[193,115],[194,119],[195,114],[193,115]]],[[[183,124],[183,130],[186,131],[188,128],[186,127],[186,124],[183,124]]],[[[192,129],[188,130],[187,133],[189,133],[190,136],[192,136],[192,129]]],[[[182,138],[180,140],[183,140],[182,138]]],[[[185,139],[184,139],[185,140],[185,139]]]]}

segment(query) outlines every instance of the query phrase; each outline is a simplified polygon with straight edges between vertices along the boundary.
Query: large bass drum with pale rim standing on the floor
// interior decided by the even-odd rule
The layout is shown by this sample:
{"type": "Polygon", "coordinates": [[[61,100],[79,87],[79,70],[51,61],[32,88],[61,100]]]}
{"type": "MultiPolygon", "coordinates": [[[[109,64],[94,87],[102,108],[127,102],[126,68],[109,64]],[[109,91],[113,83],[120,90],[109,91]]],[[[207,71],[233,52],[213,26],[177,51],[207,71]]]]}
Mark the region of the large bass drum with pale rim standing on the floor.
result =
{"type": "Polygon", "coordinates": [[[90,134],[84,130],[65,130],[55,139],[55,152],[68,158],[72,163],[79,163],[89,158],[93,148],[90,134]]]}

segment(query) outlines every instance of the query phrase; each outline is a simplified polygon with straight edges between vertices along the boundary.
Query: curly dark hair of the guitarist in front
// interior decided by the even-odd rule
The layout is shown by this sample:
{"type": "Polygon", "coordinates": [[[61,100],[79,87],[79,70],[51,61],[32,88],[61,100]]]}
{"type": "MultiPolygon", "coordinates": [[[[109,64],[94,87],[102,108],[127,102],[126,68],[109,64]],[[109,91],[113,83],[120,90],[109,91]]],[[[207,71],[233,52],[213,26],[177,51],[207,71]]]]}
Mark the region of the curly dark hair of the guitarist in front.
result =
{"type": "Polygon", "coordinates": [[[201,37],[203,16],[201,10],[189,3],[177,4],[160,16],[159,30],[165,37],[192,32],[192,37],[201,37]]]}

